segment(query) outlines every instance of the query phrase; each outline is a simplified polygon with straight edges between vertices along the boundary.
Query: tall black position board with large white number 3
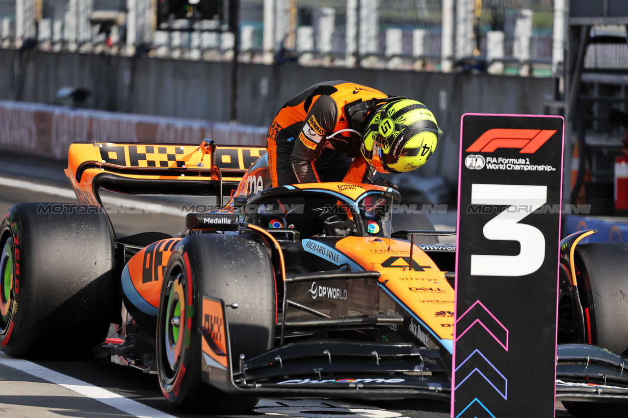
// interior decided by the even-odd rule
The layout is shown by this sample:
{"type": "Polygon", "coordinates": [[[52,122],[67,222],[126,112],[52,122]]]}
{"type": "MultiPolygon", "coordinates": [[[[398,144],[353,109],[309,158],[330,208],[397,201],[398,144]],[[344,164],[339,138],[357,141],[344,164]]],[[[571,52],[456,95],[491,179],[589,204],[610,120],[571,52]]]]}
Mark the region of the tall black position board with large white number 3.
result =
{"type": "Polygon", "coordinates": [[[563,123],[462,116],[452,418],[555,414],[563,123]]]}

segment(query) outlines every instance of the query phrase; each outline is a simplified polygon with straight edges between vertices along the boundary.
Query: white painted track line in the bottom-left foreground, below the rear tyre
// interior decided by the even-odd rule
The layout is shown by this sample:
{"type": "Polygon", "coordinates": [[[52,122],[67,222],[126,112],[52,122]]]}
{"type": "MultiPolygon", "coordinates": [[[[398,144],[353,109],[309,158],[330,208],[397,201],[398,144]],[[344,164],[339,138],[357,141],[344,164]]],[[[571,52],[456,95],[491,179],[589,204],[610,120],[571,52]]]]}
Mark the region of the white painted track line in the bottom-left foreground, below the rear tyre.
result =
{"type": "Polygon", "coordinates": [[[28,360],[12,358],[0,352],[0,364],[28,373],[31,376],[38,377],[46,382],[54,383],[65,389],[72,390],[77,394],[102,402],[105,405],[114,407],[122,412],[133,415],[138,418],[176,418],[174,415],[166,414],[160,410],[156,410],[135,400],[127,399],[122,395],[118,395],[107,389],[102,389],[83,382],[77,378],[73,378],[62,373],[55,372],[49,368],[45,368],[28,360]]]}

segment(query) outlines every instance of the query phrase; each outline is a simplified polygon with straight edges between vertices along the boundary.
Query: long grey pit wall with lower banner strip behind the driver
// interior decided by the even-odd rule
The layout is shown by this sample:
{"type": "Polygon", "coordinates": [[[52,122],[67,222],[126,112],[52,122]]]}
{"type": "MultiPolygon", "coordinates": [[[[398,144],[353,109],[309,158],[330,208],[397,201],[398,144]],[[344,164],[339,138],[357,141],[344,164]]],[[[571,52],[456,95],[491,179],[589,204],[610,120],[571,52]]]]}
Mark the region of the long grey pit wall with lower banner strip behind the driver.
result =
{"type": "Polygon", "coordinates": [[[426,104],[444,134],[418,174],[455,185],[463,113],[543,114],[553,89],[551,78],[241,63],[234,125],[230,71],[228,62],[0,49],[0,99],[31,102],[0,103],[0,147],[64,158],[79,140],[264,144],[266,126],[293,95],[348,80],[426,104]],[[58,102],[62,87],[90,90],[90,110],[35,105],[58,102]]]}

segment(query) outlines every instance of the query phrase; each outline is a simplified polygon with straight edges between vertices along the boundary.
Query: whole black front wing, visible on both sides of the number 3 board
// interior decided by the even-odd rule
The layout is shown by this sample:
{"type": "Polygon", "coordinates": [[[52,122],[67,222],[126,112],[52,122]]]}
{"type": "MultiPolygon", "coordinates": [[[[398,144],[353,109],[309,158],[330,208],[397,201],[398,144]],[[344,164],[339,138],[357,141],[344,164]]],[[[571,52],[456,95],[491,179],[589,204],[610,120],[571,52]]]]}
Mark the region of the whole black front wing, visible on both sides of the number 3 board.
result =
{"type": "MultiPolygon", "coordinates": [[[[233,370],[224,303],[203,296],[212,319],[203,336],[202,378],[230,394],[256,397],[356,399],[451,397],[448,359],[436,348],[413,343],[301,341],[239,359],[233,370]],[[220,330],[211,324],[223,324],[220,330]]],[[[628,358],[588,344],[558,345],[556,400],[628,402],[628,358]]]]}

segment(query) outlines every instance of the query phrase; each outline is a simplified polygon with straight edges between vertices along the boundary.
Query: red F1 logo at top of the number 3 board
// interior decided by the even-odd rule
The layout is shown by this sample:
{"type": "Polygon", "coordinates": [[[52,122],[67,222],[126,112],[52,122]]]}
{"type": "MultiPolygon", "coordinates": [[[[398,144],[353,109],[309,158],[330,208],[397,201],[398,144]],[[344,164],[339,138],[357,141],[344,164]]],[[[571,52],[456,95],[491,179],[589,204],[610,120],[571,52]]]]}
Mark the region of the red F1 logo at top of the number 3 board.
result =
{"type": "Polygon", "coordinates": [[[467,148],[467,153],[492,153],[498,148],[519,148],[519,154],[534,154],[555,133],[552,129],[489,129],[467,148]]]}

